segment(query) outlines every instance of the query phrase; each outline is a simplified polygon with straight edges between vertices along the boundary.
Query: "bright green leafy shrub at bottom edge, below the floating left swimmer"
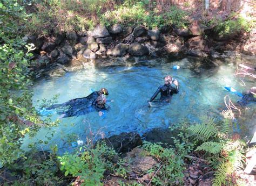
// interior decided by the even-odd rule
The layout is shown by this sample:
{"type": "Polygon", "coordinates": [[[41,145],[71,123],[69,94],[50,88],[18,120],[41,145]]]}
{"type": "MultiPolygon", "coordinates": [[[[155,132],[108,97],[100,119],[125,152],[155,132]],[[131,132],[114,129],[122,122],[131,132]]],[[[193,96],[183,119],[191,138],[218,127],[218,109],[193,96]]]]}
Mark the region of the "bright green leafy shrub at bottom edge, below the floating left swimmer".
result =
{"type": "Polygon", "coordinates": [[[98,144],[96,148],[84,148],[79,156],[69,153],[59,156],[60,170],[64,171],[65,176],[80,176],[83,185],[102,185],[100,181],[104,171],[112,167],[108,159],[116,153],[105,144],[98,144]]]}

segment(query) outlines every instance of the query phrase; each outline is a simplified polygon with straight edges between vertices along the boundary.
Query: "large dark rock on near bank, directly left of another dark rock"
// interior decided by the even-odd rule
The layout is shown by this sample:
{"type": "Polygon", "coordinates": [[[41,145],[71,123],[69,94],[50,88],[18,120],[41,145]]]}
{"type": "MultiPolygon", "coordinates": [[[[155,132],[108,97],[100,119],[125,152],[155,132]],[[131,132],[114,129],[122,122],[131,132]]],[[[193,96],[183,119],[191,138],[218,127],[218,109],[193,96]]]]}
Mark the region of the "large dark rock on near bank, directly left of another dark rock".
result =
{"type": "Polygon", "coordinates": [[[118,135],[113,135],[110,138],[104,138],[99,141],[104,141],[107,146],[113,147],[118,153],[129,152],[133,148],[142,145],[140,135],[132,132],[122,132],[118,135]]]}

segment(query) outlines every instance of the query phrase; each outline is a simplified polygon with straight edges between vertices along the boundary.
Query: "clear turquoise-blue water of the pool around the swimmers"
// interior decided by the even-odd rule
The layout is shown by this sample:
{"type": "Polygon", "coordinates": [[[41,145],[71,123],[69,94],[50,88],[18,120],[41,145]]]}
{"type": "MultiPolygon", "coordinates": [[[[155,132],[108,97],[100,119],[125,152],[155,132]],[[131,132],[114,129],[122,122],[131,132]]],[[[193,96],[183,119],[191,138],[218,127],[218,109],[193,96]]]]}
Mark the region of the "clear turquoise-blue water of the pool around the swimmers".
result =
{"type": "MultiPolygon", "coordinates": [[[[50,99],[59,94],[57,103],[63,103],[77,97],[85,97],[91,89],[109,90],[108,100],[111,109],[104,117],[91,112],[84,116],[62,118],[50,144],[58,147],[70,147],[71,138],[86,141],[86,137],[109,137],[121,132],[137,132],[143,134],[152,128],[166,128],[184,120],[199,121],[203,116],[220,117],[225,109],[224,96],[230,95],[233,102],[239,97],[227,92],[224,87],[229,85],[240,92],[252,87],[253,81],[245,81],[243,87],[240,79],[233,76],[236,63],[197,61],[183,59],[154,59],[142,62],[124,63],[122,66],[99,68],[95,63],[87,63],[84,70],[67,73],[63,77],[48,78],[36,82],[33,87],[33,101],[50,99]],[[173,65],[181,68],[173,70],[173,65]],[[163,78],[171,75],[179,82],[180,92],[174,94],[170,103],[154,102],[149,108],[147,101],[164,83],[163,78]],[[93,133],[93,137],[92,134],[93,133]]],[[[158,97],[159,98],[159,97],[158,97]]],[[[255,114],[255,105],[251,104],[248,114],[255,114]]],[[[254,115],[255,116],[255,115],[254,115]]],[[[55,120],[59,116],[52,115],[55,120]]],[[[248,117],[243,122],[252,123],[255,117],[248,117]]],[[[52,131],[41,130],[34,139],[25,139],[24,144],[31,141],[44,140],[45,134],[52,131]]],[[[72,141],[72,140],[71,140],[72,141]]],[[[49,144],[42,146],[49,148],[49,144]]]]}

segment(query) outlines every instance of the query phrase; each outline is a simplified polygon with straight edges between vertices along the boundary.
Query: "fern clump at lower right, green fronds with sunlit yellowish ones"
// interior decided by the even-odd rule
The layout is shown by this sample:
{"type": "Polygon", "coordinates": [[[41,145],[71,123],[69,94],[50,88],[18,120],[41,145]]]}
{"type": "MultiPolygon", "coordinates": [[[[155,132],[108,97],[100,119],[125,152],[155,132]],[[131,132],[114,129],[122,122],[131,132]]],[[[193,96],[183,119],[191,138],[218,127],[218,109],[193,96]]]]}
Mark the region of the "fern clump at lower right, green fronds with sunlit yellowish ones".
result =
{"type": "Polygon", "coordinates": [[[204,152],[215,170],[213,185],[232,184],[227,178],[242,168],[246,146],[242,140],[232,139],[232,121],[205,119],[188,127],[188,131],[198,144],[196,151],[204,152]]]}

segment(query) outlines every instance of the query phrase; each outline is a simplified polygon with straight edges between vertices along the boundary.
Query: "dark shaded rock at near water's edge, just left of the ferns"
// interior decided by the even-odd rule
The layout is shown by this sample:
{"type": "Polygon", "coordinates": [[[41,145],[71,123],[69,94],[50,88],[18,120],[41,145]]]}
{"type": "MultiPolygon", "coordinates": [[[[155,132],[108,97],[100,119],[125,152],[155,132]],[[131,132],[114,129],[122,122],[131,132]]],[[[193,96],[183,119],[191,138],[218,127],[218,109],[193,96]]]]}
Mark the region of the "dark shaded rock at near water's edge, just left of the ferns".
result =
{"type": "Polygon", "coordinates": [[[143,138],[152,143],[163,142],[163,145],[174,145],[172,137],[177,137],[179,133],[179,130],[171,131],[169,129],[153,128],[153,130],[143,134],[143,138]]]}

